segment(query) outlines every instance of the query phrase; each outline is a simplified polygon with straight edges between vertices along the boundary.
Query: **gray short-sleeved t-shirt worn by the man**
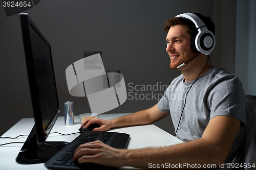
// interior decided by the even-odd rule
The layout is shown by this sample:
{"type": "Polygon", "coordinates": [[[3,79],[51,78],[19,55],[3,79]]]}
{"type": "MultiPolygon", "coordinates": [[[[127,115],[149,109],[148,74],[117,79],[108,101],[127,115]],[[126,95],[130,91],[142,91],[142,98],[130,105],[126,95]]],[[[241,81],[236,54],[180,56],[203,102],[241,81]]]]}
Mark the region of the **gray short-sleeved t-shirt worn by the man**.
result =
{"type": "MultiPolygon", "coordinates": [[[[170,113],[175,131],[186,93],[195,81],[183,82],[183,79],[183,75],[175,78],[157,104],[159,110],[170,113]]],[[[237,162],[246,130],[244,90],[238,77],[222,67],[212,66],[188,92],[176,137],[182,141],[201,138],[209,120],[219,115],[233,116],[241,121],[239,133],[226,159],[226,163],[237,162]]]]}

